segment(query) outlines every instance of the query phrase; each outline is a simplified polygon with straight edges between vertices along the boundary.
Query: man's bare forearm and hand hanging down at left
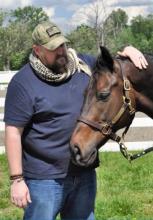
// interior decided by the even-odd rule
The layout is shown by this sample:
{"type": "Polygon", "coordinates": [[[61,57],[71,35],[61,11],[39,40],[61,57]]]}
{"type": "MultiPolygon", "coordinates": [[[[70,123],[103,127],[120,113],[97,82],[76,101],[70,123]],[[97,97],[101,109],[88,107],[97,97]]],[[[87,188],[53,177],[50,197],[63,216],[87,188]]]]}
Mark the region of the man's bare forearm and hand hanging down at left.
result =
{"type": "MultiPolygon", "coordinates": [[[[23,128],[11,125],[5,126],[5,146],[10,175],[22,175],[22,145],[23,128]]],[[[11,201],[18,207],[25,207],[31,202],[28,187],[24,180],[15,179],[11,184],[11,201]]]]}

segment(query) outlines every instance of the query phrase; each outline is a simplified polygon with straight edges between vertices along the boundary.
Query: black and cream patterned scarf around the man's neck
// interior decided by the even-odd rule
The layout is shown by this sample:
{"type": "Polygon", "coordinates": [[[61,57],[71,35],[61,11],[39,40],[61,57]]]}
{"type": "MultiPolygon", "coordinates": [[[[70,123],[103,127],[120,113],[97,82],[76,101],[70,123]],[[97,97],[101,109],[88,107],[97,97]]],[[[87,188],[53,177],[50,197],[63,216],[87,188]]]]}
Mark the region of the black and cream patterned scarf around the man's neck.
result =
{"type": "Polygon", "coordinates": [[[77,57],[75,50],[72,48],[68,49],[68,64],[67,71],[64,73],[56,74],[51,69],[47,68],[36,56],[30,54],[29,61],[36,74],[47,82],[63,82],[72,76],[76,71],[83,71],[84,73],[91,76],[90,67],[80,58],[77,57]]]}

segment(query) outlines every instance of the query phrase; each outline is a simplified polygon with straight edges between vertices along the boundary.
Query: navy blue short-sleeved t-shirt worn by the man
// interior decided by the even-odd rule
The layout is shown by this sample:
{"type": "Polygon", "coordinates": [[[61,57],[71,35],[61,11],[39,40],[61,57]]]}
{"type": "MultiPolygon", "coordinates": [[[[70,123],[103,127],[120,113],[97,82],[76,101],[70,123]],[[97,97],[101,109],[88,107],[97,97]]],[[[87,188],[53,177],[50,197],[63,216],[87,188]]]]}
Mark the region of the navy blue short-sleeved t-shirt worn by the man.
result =
{"type": "MultiPolygon", "coordinates": [[[[81,56],[91,68],[95,59],[81,56]]],[[[25,65],[8,86],[4,121],[24,127],[24,176],[63,178],[70,161],[69,140],[83,104],[89,76],[76,72],[61,83],[47,83],[25,65]]]]}

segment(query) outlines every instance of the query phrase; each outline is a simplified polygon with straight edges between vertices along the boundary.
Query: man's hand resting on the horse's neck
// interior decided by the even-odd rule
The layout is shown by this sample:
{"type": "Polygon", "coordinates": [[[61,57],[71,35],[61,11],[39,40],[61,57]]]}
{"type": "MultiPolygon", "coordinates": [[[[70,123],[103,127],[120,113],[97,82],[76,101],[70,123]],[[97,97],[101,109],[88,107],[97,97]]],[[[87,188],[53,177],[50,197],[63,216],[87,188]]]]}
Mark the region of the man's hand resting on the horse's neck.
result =
{"type": "Polygon", "coordinates": [[[139,69],[146,69],[148,66],[147,60],[145,59],[143,53],[133,46],[125,47],[123,51],[118,51],[117,54],[123,57],[129,57],[134,65],[139,69]]]}

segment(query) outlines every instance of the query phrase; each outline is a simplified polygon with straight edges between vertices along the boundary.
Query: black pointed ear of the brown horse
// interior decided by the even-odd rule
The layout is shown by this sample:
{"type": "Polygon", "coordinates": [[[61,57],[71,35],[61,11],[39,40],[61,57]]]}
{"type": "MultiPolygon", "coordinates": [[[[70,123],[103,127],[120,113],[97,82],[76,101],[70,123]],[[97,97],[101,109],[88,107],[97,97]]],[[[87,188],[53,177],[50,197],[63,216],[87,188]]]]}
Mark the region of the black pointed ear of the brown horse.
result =
{"type": "Polygon", "coordinates": [[[111,54],[109,53],[107,48],[103,47],[103,46],[100,46],[100,51],[101,51],[101,61],[102,61],[103,65],[108,67],[110,69],[110,71],[113,72],[114,61],[113,61],[111,54]]]}

